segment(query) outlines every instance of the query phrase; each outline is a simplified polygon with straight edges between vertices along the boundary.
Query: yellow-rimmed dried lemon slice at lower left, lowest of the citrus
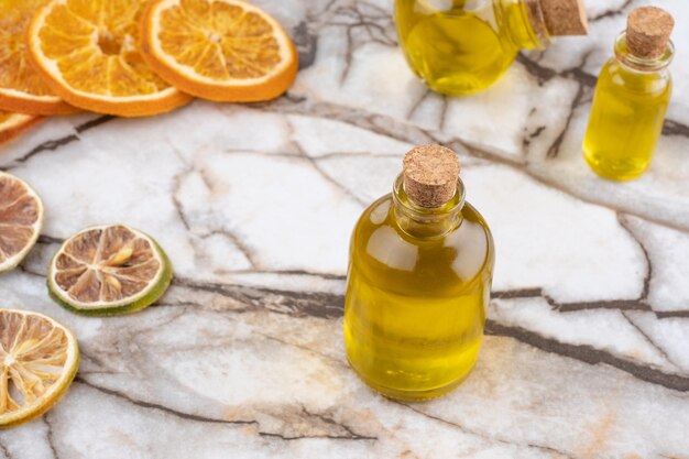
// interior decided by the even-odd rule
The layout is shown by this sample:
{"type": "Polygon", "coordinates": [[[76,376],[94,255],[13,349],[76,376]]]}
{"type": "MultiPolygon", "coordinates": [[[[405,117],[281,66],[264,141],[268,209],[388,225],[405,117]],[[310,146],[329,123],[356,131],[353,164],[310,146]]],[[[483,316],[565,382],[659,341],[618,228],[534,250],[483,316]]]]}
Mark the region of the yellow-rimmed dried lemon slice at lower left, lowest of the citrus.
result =
{"type": "Polygon", "coordinates": [[[0,309],[0,427],[51,409],[79,368],[77,340],[41,314],[0,309]]]}

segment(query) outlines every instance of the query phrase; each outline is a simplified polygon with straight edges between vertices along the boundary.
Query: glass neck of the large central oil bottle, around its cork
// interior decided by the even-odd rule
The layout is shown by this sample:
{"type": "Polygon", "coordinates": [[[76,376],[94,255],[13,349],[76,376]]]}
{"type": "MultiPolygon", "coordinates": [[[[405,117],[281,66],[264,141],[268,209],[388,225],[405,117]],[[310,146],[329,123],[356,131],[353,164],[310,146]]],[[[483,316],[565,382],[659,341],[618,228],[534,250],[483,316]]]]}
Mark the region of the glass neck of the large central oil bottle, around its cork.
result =
{"type": "Polygon", "coordinates": [[[464,184],[457,181],[455,196],[441,207],[420,207],[414,204],[404,190],[400,175],[393,186],[393,210],[397,226],[413,238],[438,238],[455,230],[462,221],[464,184]]]}

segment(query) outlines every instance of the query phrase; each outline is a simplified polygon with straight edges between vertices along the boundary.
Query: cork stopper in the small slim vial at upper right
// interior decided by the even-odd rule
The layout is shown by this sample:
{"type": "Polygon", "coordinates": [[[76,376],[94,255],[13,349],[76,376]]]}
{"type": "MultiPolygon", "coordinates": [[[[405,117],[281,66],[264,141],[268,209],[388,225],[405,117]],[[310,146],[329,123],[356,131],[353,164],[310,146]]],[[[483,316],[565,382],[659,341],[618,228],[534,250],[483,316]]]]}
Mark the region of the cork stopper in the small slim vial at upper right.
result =
{"type": "Polygon", "coordinates": [[[626,46],[636,57],[653,59],[665,54],[675,20],[655,7],[636,8],[626,25],[626,46]]]}

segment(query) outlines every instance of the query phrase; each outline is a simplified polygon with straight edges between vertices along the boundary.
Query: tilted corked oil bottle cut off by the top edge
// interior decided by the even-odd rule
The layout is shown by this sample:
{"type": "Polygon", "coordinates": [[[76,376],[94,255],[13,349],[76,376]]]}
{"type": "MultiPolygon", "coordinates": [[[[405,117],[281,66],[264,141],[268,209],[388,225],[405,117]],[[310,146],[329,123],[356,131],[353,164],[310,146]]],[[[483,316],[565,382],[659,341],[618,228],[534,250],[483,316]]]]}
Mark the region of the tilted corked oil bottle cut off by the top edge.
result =
{"type": "Polygon", "coordinates": [[[583,0],[395,0],[400,44],[412,69],[438,92],[488,88],[520,50],[557,35],[586,35],[583,0]]]}

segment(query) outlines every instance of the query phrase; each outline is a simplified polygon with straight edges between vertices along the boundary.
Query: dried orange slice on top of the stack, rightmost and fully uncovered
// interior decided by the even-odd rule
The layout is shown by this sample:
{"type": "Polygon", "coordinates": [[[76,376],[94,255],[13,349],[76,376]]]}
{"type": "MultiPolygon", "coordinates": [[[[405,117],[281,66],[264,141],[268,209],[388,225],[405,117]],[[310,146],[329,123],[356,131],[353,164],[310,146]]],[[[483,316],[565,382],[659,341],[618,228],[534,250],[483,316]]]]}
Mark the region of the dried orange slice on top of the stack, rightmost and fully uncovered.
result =
{"type": "Polygon", "coordinates": [[[239,0],[154,0],[143,19],[143,55],[182,90],[217,101],[285,92],[298,58],[282,26],[239,0]]]}

